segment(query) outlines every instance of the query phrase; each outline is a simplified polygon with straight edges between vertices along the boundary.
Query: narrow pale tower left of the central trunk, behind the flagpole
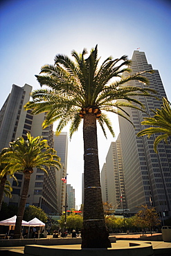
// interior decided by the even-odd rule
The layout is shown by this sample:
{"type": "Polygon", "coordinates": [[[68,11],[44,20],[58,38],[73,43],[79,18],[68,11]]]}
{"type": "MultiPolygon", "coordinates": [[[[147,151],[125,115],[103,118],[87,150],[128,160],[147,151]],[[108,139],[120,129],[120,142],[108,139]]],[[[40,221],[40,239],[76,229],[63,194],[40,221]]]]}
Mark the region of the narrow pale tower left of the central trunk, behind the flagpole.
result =
{"type": "Polygon", "coordinates": [[[57,208],[61,215],[64,211],[66,199],[66,183],[61,179],[66,177],[67,156],[68,156],[68,137],[66,132],[61,132],[59,136],[54,133],[54,149],[57,151],[57,156],[60,156],[62,168],[57,172],[57,208]]]}

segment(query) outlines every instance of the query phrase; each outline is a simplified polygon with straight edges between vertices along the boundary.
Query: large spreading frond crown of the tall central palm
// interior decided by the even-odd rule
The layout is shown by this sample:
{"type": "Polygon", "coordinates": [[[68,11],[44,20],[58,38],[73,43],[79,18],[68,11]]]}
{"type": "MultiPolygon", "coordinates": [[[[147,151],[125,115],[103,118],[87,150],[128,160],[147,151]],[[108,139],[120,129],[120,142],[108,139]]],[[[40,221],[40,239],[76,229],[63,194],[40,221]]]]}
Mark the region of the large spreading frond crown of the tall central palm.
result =
{"type": "Polygon", "coordinates": [[[138,80],[148,84],[147,78],[142,76],[147,71],[120,78],[123,72],[129,73],[131,71],[127,67],[131,62],[126,55],[116,60],[108,57],[98,68],[100,59],[98,59],[97,46],[91,50],[89,57],[84,59],[86,54],[86,49],[80,55],[73,51],[72,56],[75,58],[75,62],[65,55],[56,55],[55,66],[48,64],[42,66],[41,75],[35,76],[41,86],[45,84],[49,89],[34,91],[32,93],[33,101],[28,102],[25,108],[33,109],[35,114],[48,112],[43,127],[60,120],[57,133],[60,133],[71,122],[70,137],[74,131],[77,131],[84,114],[94,113],[105,136],[105,124],[114,136],[111,122],[103,111],[117,113],[129,120],[129,115],[123,110],[123,107],[139,109],[137,104],[143,107],[143,104],[134,96],[150,96],[154,90],[125,86],[125,82],[130,80],[138,80]],[[114,77],[120,79],[111,82],[114,77]],[[136,104],[132,104],[133,102],[136,104]]]}

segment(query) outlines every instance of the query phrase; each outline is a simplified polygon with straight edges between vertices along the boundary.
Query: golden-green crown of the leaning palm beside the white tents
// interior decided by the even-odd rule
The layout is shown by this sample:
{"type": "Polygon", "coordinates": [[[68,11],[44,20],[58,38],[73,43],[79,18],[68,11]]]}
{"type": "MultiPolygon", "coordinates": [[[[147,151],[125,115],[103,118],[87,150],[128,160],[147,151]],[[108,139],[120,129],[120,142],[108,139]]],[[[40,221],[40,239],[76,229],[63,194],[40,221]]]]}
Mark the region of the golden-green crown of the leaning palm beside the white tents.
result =
{"type": "Polygon", "coordinates": [[[10,174],[15,172],[30,172],[33,173],[33,168],[37,167],[47,173],[52,166],[60,167],[60,158],[56,155],[53,148],[47,144],[47,140],[42,140],[41,136],[33,138],[27,134],[27,140],[23,137],[10,143],[10,147],[3,154],[3,163],[8,163],[2,171],[5,173],[10,170],[10,174]]]}

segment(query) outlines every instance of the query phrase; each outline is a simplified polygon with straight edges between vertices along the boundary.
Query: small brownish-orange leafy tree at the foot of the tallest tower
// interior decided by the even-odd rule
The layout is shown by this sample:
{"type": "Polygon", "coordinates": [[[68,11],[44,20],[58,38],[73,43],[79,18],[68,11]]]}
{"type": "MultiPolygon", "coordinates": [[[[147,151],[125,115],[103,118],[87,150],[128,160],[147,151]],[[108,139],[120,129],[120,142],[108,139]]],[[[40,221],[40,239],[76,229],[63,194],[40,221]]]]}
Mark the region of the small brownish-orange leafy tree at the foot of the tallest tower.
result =
{"type": "Polygon", "coordinates": [[[150,231],[152,231],[152,228],[161,225],[159,215],[154,207],[141,205],[140,208],[142,208],[142,210],[139,210],[136,213],[136,217],[134,219],[134,226],[149,228],[150,231]]]}

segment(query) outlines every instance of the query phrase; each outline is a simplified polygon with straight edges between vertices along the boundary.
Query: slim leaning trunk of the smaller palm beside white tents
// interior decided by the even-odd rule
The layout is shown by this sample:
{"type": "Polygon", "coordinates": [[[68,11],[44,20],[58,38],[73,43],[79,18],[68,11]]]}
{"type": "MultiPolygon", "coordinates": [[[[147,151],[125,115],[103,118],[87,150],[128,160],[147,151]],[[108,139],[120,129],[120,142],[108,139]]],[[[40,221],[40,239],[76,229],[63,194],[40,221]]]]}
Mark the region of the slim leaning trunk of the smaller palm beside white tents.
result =
{"type": "Polygon", "coordinates": [[[31,176],[30,172],[24,172],[24,185],[23,185],[23,190],[21,193],[21,199],[19,202],[19,210],[17,212],[14,239],[19,239],[22,237],[21,223],[22,223],[22,219],[24,216],[25,206],[26,206],[26,199],[27,199],[28,188],[29,188],[29,184],[30,184],[30,176],[31,176]]]}

